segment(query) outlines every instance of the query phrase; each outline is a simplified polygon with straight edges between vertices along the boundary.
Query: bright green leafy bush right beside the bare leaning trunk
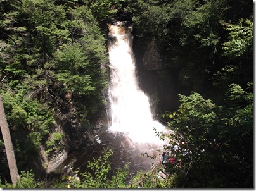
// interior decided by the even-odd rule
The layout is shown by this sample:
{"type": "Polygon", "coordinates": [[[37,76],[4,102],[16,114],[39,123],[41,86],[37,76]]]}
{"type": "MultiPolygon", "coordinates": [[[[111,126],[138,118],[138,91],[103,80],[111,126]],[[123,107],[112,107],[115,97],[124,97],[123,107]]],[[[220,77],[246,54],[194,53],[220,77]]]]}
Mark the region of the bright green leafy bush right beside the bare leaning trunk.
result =
{"type": "Polygon", "coordinates": [[[1,92],[6,118],[10,127],[15,156],[19,168],[29,161],[29,156],[38,151],[49,136],[54,118],[46,104],[39,103],[25,95],[24,90],[1,92]]]}

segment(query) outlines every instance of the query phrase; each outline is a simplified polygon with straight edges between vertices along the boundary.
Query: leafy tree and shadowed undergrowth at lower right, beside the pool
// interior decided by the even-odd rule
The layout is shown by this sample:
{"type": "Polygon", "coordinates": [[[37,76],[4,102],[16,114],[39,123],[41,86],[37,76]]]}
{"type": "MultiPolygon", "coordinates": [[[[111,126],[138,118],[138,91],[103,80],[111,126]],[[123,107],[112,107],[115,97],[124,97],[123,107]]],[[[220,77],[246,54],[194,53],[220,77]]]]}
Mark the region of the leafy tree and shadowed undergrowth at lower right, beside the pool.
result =
{"type": "Polygon", "coordinates": [[[248,83],[246,90],[230,85],[222,107],[195,92],[179,95],[179,110],[165,114],[175,132],[166,135],[170,142],[165,149],[181,159],[176,187],[253,187],[252,85],[248,83]]]}

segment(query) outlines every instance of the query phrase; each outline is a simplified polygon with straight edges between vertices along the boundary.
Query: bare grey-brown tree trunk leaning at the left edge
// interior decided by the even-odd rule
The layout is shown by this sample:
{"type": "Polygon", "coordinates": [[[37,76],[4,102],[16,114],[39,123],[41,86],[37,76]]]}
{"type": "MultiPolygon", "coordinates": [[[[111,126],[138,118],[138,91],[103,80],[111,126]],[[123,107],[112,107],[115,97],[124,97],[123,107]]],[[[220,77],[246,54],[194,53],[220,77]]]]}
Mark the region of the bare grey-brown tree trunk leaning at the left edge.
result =
{"type": "Polygon", "coordinates": [[[13,144],[11,142],[11,135],[8,128],[8,123],[6,121],[6,116],[4,113],[4,105],[2,97],[0,94],[0,127],[4,140],[4,147],[7,156],[8,166],[11,175],[11,182],[15,185],[17,182],[20,182],[20,176],[18,175],[18,168],[15,160],[13,144]]]}

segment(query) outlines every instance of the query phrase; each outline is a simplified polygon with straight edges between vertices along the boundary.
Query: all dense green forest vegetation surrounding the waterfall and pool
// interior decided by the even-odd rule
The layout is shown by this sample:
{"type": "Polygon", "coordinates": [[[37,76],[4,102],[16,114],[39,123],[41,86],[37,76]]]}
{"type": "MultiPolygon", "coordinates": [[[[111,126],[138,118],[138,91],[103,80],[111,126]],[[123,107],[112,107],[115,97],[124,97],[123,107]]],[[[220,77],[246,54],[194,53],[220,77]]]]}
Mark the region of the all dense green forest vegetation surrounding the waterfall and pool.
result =
{"type": "Polygon", "coordinates": [[[106,20],[125,15],[136,40],[156,42],[163,61],[157,75],[166,89],[174,72],[186,87],[179,109],[162,114],[176,134],[159,133],[181,162],[165,169],[172,176],[164,182],[138,173],[127,185],[127,169],[106,178],[112,151],[105,151],[106,158],[89,163],[93,174],[51,187],[253,188],[253,2],[10,0],[0,10],[0,92],[23,171],[20,185],[1,187],[50,188],[35,180],[29,157],[41,147],[48,157],[60,151],[63,132],[56,126],[74,116],[86,126],[104,106],[106,20]]]}

